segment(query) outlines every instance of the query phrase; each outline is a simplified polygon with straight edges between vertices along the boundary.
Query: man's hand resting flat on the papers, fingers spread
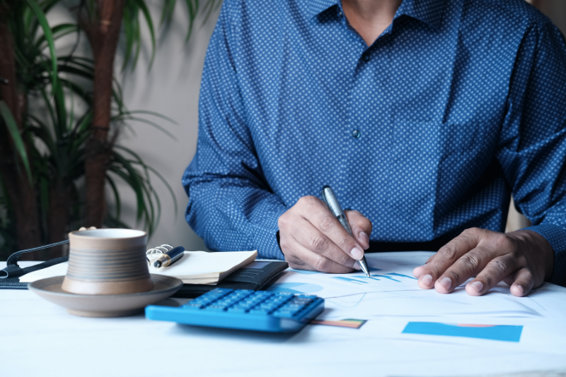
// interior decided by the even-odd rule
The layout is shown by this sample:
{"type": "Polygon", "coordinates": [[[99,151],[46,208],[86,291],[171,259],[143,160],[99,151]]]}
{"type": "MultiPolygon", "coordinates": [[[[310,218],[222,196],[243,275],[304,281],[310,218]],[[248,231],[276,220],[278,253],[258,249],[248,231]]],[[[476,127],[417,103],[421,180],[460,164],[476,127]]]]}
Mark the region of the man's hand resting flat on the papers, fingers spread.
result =
{"type": "Polygon", "coordinates": [[[415,268],[413,275],[421,288],[434,287],[439,293],[450,293],[475,276],[466,285],[472,296],[485,294],[504,281],[514,296],[523,297],[548,280],[553,267],[553,248],[541,234],[470,228],[415,268]]]}

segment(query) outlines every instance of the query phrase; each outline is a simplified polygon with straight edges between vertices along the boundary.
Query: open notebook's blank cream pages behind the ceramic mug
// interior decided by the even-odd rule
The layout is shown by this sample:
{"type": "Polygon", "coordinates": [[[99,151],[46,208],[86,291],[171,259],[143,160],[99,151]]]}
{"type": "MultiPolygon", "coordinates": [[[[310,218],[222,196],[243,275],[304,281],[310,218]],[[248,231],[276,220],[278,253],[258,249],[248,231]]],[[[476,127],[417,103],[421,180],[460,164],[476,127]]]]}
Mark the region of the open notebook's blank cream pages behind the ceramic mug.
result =
{"type": "MultiPolygon", "coordinates": [[[[227,251],[207,253],[206,251],[185,251],[180,261],[164,268],[149,268],[149,273],[174,276],[185,284],[216,285],[224,277],[253,262],[258,251],[227,251]]],[[[69,263],[59,263],[42,270],[33,271],[20,277],[20,282],[35,282],[46,277],[67,274],[69,263]]]]}

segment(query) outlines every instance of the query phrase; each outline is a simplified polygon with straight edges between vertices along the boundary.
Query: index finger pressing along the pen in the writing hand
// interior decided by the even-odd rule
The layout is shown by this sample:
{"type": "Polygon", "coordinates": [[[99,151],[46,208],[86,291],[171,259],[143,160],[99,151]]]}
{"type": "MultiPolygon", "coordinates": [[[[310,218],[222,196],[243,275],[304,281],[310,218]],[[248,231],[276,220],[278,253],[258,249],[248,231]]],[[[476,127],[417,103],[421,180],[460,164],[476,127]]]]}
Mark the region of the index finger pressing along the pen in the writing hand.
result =
{"type": "Polygon", "coordinates": [[[364,258],[362,246],[342,227],[323,201],[314,196],[304,196],[299,201],[306,202],[299,206],[302,217],[352,258],[358,261],[364,258]]]}

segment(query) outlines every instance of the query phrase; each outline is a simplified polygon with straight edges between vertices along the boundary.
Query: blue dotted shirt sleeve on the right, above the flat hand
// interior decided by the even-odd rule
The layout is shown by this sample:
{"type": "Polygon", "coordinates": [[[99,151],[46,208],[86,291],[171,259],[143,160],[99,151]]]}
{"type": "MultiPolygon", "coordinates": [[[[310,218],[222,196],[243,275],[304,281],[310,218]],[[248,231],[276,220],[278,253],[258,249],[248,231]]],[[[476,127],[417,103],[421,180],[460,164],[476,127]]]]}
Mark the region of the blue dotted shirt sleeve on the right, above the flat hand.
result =
{"type": "Polygon", "coordinates": [[[566,44],[550,22],[521,42],[497,159],[526,229],[553,246],[550,281],[566,285],[566,44]]]}

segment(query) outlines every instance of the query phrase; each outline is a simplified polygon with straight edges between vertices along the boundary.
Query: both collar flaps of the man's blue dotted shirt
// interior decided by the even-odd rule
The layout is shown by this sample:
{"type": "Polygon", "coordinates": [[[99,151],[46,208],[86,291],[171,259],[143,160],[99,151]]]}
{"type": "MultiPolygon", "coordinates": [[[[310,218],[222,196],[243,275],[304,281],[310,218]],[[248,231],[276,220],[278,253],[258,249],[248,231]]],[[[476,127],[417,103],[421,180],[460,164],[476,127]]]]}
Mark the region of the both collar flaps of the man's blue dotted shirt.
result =
{"type": "MultiPolygon", "coordinates": [[[[340,3],[340,0],[308,0],[308,11],[316,16],[326,9],[340,3]]],[[[434,28],[439,28],[444,14],[446,0],[403,0],[395,18],[403,14],[421,20],[434,28]]]]}

